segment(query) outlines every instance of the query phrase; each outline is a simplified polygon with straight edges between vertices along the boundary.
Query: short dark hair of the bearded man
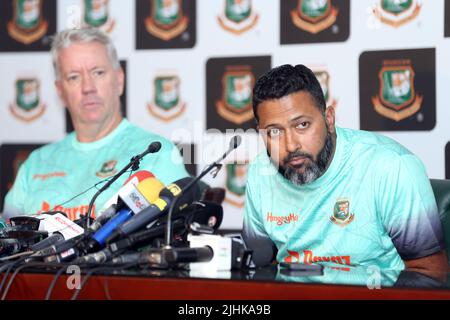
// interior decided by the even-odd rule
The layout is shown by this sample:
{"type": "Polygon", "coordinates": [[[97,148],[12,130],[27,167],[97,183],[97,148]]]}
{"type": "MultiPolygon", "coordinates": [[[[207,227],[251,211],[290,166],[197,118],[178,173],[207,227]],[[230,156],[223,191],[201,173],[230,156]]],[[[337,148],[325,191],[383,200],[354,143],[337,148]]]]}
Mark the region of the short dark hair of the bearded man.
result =
{"type": "Polygon", "coordinates": [[[253,88],[253,113],[258,122],[258,105],[266,100],[280,99],[291,93],[306,91],[325,114],[326,103],[322,87],[311,69],[302,64],[285,64],[263,74],[253,88]]]}

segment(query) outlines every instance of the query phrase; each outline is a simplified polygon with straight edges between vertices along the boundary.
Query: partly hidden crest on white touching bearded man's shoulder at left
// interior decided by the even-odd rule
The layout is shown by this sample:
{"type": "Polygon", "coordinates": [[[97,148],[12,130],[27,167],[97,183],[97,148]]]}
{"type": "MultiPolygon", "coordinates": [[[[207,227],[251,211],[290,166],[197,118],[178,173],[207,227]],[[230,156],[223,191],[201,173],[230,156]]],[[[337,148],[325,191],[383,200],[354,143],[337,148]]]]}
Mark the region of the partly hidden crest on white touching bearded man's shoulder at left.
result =
{"type": "Polygon", "coordinates": [[[244,206],[245,185],[247,183],[248,163],[229,163],[226,169],[225,201],[242,208],[244,206]]]}

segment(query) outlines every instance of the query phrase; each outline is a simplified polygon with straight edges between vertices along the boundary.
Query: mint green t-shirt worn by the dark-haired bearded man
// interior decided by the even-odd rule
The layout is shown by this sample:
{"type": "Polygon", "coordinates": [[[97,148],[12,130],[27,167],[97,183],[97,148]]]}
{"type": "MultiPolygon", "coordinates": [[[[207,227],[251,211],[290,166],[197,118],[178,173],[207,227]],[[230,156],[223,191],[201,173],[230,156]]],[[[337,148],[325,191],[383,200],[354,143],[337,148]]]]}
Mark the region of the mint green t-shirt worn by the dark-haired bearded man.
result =
{"type": "Polygon", "coordinates": [[[285,179],[266,152],[250,165],[244,235],[269,237],[277,261],[404,269],[444,249],[425,168],[397,142],[336,128],[334,157],[310,184],[285,179]]]}

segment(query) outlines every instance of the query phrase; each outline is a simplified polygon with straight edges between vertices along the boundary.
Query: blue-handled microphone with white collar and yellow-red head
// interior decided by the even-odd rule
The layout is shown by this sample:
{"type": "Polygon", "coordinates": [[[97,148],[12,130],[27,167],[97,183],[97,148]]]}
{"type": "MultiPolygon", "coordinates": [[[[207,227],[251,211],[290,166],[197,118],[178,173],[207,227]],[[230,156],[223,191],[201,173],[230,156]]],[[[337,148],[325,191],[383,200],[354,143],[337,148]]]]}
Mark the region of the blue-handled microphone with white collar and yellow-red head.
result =
{"type": "Polygon", "coordinates": [[[136,213],[141,212],[150,206],[150,203],[157,199],[159,191],[164,185],[156,178],[147,178],[140,182],[137,186],[129,184],[121,190],[119,194],[119,207],[123,209],[111,218],[103,227],[101,227],[86,245],[87,252],[94,252],[104,247],[105,240],[118,226],[129,220],[136,213]]]}

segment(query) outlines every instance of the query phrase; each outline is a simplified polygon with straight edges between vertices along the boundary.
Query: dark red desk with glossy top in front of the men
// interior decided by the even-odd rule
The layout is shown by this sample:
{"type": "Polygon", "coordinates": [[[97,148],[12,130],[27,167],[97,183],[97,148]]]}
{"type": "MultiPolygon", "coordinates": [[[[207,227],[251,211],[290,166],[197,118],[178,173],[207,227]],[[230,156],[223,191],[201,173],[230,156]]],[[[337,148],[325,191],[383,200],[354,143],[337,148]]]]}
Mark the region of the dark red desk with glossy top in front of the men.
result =
{"type": "MultiPolygon", "coordinates": [[[[366,277],[363,279],[361,271],[329,270],[328,275],[324,273],[323,276],[287,276],[271,267],[256,272],[200,276],[187,271],[115,270],[89,278],[78,299],[450,299],[448,280],[443,283],[411,272],[402,272],[395,277],[394,274],[367,273],[367,270],[364,270],[366,277]],[[345,276],[340,272],[346,272],[345,276]],[[332,277],[334,282],[330,281],[332,277]]],[[[74,290],[69,290],[67,285],[73,280],[70,277],[62,274],[51,299],[72,297],[74,290]]],[[[81,281],[84,277],[82,274],[81,281]]],[[[20,273],[6,299],[44,299],[53,278],[52,273],[20,273]]]]}

